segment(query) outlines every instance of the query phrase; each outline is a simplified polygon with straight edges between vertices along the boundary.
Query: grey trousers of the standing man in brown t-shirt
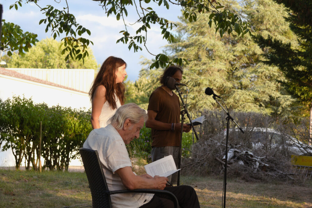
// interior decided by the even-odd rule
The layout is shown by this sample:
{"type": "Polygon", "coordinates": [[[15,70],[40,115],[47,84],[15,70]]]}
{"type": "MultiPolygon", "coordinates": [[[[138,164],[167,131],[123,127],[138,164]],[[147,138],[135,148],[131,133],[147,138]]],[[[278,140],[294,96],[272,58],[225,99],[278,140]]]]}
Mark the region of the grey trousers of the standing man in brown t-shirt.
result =
{"type": "MultiPolygon", "coordinates": [[[[153,147],[151,151],[152,162],[159,160],[163,157],[172,155],[174,163],[178,168],[178,156],[179,156],[179,147],[178,146],[162,146],[162,147],[153,147]]],[[[178,172],[173,173],[168,176],[168,180],[172,184],[177,184],[178,181],[178,172]]]]}

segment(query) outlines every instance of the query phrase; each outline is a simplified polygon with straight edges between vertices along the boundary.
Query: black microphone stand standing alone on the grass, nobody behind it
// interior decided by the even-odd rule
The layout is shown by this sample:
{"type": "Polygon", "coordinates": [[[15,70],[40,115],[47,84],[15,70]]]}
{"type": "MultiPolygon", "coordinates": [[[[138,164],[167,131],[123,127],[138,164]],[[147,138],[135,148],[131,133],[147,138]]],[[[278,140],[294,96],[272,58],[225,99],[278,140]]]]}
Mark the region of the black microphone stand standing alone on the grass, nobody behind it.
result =
{"type": "MultiPolygon", "coordinates": [[[[223,111],[227,114],[227,136],[226,136],[226,145],[225,145],[225,167],[224,167],[224,178],[223,178],[223,191],[224,191],[224,198],[223,198],[223,204],[222,207],[225,208],[225,200],[226,200],[226,193],[227,193],[227,143],[229,139],[229,129],[230,129],[230,119],[236,124],[236,126],[241,130],[241,132],[244,133],[242,128],[238,126],[236,121],[234,121],[233,117],[230,116],[230,113],[224,109],[224,107],[220,104],[220,102],[216,99],[216,96],[213,95],[212,98],[217,101],[219,106],[223,109],[223,111]]],[[[222,98],[220,98],[222,100],[222,98]]],[[[223,100],[222,100],[223,101],[223,100]]],[[[224,102],[223,102],[224,103],[224,102]]]]}

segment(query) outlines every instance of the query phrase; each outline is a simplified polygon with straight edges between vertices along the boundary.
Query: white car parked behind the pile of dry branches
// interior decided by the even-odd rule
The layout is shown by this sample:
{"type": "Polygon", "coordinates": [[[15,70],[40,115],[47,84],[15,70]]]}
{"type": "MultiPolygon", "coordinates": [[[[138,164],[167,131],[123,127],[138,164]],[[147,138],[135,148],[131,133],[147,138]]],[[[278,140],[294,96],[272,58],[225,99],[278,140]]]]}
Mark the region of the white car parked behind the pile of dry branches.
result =
{"type": "MultiPolygon", "coordinates": [[[[287,148],[295,155],[303,155],[312,152],[311,145],[307,145],[275,129],[260,127],[243,127],[242,129],[245,134],[250,136],[250,141],[254,149],[283,147],[287,148]]],[[[226,136],[226,133],[225,129],[223,132],[224,136],[226,136]]],[[[229,138],[240,138],[242,134],[243,133],[238,128],[230,129],[229,138]]]]}

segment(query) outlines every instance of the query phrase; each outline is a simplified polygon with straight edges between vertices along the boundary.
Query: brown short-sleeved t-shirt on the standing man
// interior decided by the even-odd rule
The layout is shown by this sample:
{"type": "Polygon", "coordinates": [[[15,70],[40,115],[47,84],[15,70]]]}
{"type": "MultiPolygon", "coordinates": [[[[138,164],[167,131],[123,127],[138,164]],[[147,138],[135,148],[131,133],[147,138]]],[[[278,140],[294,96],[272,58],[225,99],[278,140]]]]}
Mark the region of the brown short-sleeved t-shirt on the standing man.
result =
{"type": "MultiPolygon", "coordinates": [[[[147,110],[157,112],[156,121],[163,123],[180,123],[180,101],[179,97],[173,93],[169,95],[162,87],[156,88],[149,96],[149,106],[147,110]]],[[[156,130],[152,129],[152,146],[180,146],[180,131],[156,130]]]]}

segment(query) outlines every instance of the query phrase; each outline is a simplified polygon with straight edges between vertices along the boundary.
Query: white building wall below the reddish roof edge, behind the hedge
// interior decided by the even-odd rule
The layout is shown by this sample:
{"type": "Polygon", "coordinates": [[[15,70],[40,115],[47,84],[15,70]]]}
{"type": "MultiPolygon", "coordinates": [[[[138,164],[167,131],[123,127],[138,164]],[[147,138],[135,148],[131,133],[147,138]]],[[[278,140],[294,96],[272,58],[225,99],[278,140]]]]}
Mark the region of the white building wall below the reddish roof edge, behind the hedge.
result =
{"type": "MultiPolygon", "coordinates": [[[[7,98],[12,98],[13,95],[24,95],[26,98],[32,97],[35,103],[45,102],[48,106],[60,105],[86,109],[91,107],[88,93],[0,74],[0,98],[6,100],[7,98]]],[[[70,165],[81,165],[81,163],[75,160],[70,165]]],[[[0,152],[0,166],[15,166],[11,149],[0,152]]]]}

